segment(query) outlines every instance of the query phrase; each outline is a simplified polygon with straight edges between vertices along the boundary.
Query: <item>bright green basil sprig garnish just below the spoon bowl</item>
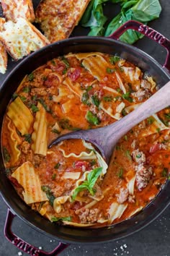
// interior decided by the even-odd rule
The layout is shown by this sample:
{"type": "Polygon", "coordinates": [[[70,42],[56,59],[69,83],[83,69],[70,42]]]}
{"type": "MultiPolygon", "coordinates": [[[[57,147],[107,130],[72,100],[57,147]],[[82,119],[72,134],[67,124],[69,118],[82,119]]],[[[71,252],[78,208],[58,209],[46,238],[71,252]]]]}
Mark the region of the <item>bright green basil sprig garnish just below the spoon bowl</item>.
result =
{"type": "Polygon", "coordinates": [[[94,170],[89,172],[89,174],[86,177],[86,181],[84,181],[83,183],[81,183],[81,185],[79,185],[79,187],[76,187],[76,189],[74,189],[72,200],[75,200],[76,195],[78,195],[79,192],[86,189],[89,190],[91,195],[94,195],[95,191],[93,187],[94,187],[94,184],[97,182],[97,179],[101,173],[102,173],[102,167],[95,168],[94,170]]]}

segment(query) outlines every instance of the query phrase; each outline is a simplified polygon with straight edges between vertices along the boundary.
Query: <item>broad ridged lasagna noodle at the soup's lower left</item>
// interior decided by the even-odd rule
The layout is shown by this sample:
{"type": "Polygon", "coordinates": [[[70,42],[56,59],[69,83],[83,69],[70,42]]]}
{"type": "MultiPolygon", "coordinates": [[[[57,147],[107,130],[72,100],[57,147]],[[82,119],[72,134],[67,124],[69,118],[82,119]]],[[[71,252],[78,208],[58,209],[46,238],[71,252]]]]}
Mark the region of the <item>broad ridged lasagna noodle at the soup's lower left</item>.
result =
{"type": "Polygon", "coordinates": [[[41,189],[40,179],[32,163],[29,161],[19,166],[12,174],[17,182],[24,188],[22,195],[27,204],[48,201],[48,197],[41,189]]]}

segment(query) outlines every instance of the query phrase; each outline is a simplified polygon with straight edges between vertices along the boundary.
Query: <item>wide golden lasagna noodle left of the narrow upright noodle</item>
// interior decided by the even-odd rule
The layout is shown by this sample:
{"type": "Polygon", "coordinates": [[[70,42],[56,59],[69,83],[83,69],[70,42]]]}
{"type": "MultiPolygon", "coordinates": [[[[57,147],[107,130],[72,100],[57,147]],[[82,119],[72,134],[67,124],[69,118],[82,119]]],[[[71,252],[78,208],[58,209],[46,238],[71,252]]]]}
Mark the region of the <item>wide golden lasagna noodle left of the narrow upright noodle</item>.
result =
{"type": "Polygon", "coordinates": [[[22,135],[29,133],[29,129],[33,121],[33,116],[30,112],[30,109],[24,105],[19,97],[12,101],[6,114],[10,119],[12,119],[15,127],[17,127],[22,135]]]}

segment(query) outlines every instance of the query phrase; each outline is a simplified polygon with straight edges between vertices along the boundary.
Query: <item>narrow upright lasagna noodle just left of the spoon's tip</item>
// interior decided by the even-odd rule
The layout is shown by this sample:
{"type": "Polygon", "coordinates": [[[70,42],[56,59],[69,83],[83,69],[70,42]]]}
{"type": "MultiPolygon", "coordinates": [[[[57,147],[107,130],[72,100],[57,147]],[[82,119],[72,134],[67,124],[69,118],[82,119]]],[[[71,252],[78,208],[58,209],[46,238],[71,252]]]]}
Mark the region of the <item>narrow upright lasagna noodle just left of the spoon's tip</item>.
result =
{"type": "Polygon", "coordinates": [[[32,150],[35,154],[47,154],[47,120],[46,111],[42,104],[37,103],[37,111],[35,115],[35,122],[33,125],[34,132],[32,132],[32,150]]]}

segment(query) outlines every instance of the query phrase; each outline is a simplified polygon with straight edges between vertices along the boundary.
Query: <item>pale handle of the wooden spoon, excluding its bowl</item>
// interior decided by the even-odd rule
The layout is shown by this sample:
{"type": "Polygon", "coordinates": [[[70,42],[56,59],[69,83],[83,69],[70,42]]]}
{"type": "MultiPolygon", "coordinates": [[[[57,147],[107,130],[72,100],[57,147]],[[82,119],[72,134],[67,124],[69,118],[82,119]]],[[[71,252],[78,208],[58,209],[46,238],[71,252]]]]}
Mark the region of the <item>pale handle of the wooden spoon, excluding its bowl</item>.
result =
{"type": "MultiPolygon", "coordinates": [[[[132,111],[127,116],[120,119],[120,121],[116,122],[115,124],[109,125],[108,133],[107,133],[107,140],[112,138],[112,126],[115,129],[116,126],[116,137],[119,139],[126,132],[132,129],[136,124],[140,123],[144,119],[148,118],[152,114],[155,114],[161,109],[166,108],[170,105],[170,81],[166,83],[158,92],[153,94],[151,98],[148,98],[147,101],[142,103],[138,108],[132,111]]],[[[111,139],[112,140],[112,139],[111,139]]]]}

